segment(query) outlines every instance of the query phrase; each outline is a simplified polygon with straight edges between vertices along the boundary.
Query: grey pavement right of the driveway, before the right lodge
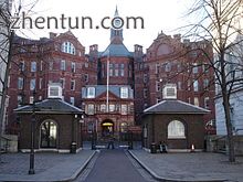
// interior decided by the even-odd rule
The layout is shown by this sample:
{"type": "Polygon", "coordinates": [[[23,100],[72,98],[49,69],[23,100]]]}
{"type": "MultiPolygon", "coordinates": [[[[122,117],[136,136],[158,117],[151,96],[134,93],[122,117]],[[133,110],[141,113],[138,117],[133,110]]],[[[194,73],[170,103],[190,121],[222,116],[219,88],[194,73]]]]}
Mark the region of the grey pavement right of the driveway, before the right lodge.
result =
{"type": "Polygon", "coordinates": [[[171,182],[243,182],[243,157],[230,163],[221,153],[149,153],[130,150],[130,154],[157,180],[171,182]]]}

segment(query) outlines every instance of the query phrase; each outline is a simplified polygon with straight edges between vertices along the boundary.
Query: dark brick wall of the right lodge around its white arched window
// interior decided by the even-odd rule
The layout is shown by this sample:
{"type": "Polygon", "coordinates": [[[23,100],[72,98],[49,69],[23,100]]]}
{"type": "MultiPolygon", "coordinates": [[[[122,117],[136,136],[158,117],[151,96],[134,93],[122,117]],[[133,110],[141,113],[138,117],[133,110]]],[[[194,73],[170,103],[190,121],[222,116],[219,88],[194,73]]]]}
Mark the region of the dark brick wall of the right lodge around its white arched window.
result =
{"type": "Polygon", "coordinates": [[[142,119],[142,125],[147,125],[147,138],[142,139],[145,148],[150,148],[155,142],[165,142],[168,149],[191,149],[194,144],[196,149],[204,148],[204,126],[202,115],[147,115],[142,119]],[[172,120],[183,122],[186,129],[186,138],[183,139],[169,139],[168,125],[172,120]]]}

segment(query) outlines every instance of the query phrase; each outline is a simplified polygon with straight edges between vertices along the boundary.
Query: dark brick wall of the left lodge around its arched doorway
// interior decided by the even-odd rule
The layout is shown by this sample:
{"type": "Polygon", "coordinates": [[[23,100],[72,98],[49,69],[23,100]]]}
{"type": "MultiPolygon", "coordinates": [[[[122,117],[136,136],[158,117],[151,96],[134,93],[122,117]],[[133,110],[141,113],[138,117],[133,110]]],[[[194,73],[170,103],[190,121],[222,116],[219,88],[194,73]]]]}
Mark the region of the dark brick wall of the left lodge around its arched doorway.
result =
{"type": "MultiPolygon", "coordinates": [[[[21,135],[20,135],[20,149],[25,151],[30,149],[30,135],[31,127],[30,120],[31,115],[29,114],[20,114],[21,120],[21,135]]],[[[41,125],[51,120],[56,124],[57,133],[56,133],[56,147],[50,148],[55,149],[60,152],[68,152],[72,142],[76,142],[77,149],[82,147],[82,138],[81,138],[81,124],[78,120],[75,120],[73,115],[36,115],[35,116],[35,125],[34,125],[34,149],[41,149],[41,125]],[[73,135],[73,136],[72,136],[73,135]]]]}

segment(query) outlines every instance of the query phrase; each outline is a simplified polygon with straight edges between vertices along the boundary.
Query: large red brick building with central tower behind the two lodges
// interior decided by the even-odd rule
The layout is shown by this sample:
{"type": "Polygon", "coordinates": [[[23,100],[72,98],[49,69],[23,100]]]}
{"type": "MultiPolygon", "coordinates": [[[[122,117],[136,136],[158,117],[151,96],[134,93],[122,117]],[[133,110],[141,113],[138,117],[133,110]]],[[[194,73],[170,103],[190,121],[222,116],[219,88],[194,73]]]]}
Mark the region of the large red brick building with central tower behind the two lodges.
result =
{"type": "MultiPolygon", "coordinates": [[[[115,15],[118,15],[117,10],[115,15]]],[[[98,45],[94,44],[85,54],[85,47],[71,31],[60,35],[50,33],[50,38],[40,40],[17,36],[8,90],[7,130],[15,132],[18,129],[13,109],[31,103],[34,89],[39,100],[45,99],[49,83],[61,83],[63,99],[78,108],[85,109],[89,103],[97,104],[97,114],[87,115],[87,120],[95,116],[99,121],[97,127],[102,127],[106,119],[113,122],[119,120],[117,125],[113,124],[113,127],[117,126],[113,130],[116,132],[120,131],[123,120],[128,120],[129,126],[140,124],[144,109],[161,100],[161,88],[166,83],[178,85],[178,99],[211,110],[204,116],[204,124],[214,119],[214,86],[211,84],[214,76],[207,64],[207,57],[213,57],[210,42],[181,41],[180,35],[171,38],[160,33],[145,54],[138,44],[135,44],[133,52],[128,51],[123,40],[123,29],[110,29],[107,49],[99,52],[98,45]],[[122,87],[127,87],[133,90],[133,98],[129,99],[120,98],[120,93],[109,93],[110,101],[126,103],[130,108],[128,115],[122,115],[119,108],[116,114],[101,114],[106,89],[94,98],[82,98],[82,88],[104,87],[107,75],[114,89],[120,92],[122,87]]],[[[102,131],[102,128],[97,130],[102,131]]]]}

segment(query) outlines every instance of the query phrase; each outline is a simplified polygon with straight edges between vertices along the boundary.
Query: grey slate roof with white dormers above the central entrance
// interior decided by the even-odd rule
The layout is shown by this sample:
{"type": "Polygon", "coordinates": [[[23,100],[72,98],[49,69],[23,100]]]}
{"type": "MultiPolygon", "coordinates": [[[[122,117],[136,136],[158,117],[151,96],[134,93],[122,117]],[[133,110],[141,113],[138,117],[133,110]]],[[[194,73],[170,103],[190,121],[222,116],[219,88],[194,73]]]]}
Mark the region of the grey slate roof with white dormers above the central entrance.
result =
{"type": "MultiPolygon", "coordinates": [[[[95,97],[98,97],[103,93],[106,93],[106,85],[87,85],[87,87],[95,87],[95,97]]],[[[134,98],[134,90],[129,85],[109,85],[109,93],[113,93],[115,96],[120,97],[120,87],[128,87],[128,98],[134,98]]],[[[87,89],[82,89],[82,98],[87,97],[87,89]]]]}

